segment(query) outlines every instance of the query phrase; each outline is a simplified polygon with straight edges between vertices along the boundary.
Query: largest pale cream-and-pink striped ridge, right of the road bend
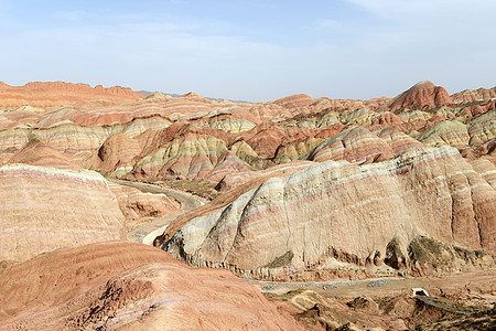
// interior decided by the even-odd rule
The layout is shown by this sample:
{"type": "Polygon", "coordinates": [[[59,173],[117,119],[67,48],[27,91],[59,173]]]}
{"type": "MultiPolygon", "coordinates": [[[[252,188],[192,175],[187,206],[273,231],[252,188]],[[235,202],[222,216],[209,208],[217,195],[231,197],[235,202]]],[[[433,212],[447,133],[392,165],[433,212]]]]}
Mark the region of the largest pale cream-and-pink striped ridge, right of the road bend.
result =
{"type": "Polygon", "coordinates": [[[495,253],[495,202],[455,149],[416,148],[377,164],[327,161],[272,178],[170,226],[163,248],[245,277],[319,278],[364,266],[387,274],[382,260],[419,273],[487,267],[490,256],[468,252],[495,253]],[[429,247],[443,255],[431,260],[429,247]]]}

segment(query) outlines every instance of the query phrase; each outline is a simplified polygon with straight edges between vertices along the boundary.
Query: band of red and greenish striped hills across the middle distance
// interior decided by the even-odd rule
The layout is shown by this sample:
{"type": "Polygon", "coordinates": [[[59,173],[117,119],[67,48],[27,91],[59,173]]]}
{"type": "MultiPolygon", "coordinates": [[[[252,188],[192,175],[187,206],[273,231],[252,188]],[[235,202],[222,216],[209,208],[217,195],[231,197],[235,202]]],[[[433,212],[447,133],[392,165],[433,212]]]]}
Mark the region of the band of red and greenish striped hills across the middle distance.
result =
{"type": "MultiPolygon", "coordinates": [[[[387,98],[363,102],[293,95],[252,105],[214,103],[194,93],[181,97],[151,95],[119,105],[75,104],[45,111],[28,106],[0,114],[0,128],[3,128],[0,130],[0,162],[8,162],[34,134],[46,146],[63,152],[69,162],[109,177],[131,180],[181,177],[218,182],[228,172],[309,159],[325,139],[336,139],[332,137],[349,132],[355,126],[370,132],[393,128],[420,137],[429,146],[470,147],[470,152],[478,156],[481,152],[475,152],[474,148],[494,138],[494,102],[452,108],[443,90],[422,82],[390,100],[389,108],[387,98]],[[439,106],[444,104],[448,105],[439,106]],[[387,111],[395,110],[397,105],[401,111],[387,111]],[[410,110],[411,107],[424,110],[410,110]],[[450,130],[443,124],[445,120],[464,124],[466,132],[463,129],[461,134],[442,134],[443,128],[450,130]],[[174,126],[168,129],[172,124],[174,126]],[[177,137],[175,132],[180,132],[177,137]],[[422,132],[425,134],[419,136],[422,132]],[[204,142],[192,147],[187,141],[204,142]]],[[[360,129],[353,130],[356,134],[360,129]]],[[[352,150],[352,153],[358,150],[362,150],[358,153],[369,153],[366,150],[371,141],[381,145],[379,149],[384,153],[371,152],[366,162],[384,161],[397,153],[387,150],[381,139],[365,136],[346,138],[356,140],[345,147],[346,153],[352,150]]],[[[321,151],[326,157],[314,159],[316,156],[312,156],[310,160],[357,161],[358,154],[334,156],[337,150],[333,148],[341,149],[327,146],[321,151]]]]}

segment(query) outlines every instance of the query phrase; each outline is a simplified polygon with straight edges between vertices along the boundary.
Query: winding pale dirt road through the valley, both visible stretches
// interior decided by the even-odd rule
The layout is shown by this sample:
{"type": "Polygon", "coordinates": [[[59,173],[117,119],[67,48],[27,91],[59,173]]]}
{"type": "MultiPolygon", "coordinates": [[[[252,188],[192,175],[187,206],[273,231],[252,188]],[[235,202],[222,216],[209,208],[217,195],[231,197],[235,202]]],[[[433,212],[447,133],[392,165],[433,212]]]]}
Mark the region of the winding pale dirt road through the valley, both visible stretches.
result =
{"type": "MultiPolygon", "coordinates": [[[[173,215],[157,218],[152,222],[144,223],[128,233],[128,239],[152,245],[153,239],[161,235],[168,225],[177,216],[185,212],[196,209],[205,204],[205,200],[173,189],[165,189],[153,184],[128,182],[121,180],[109,179],[117,184],[136,188],[145,193],[165,194],[175,199],[181,209],[173,215]]],[[[261,292],[284,293],[294,289],[311,289],[324,297],[334,298],[355,298],[357,296],[396,296],[400,293],[410,293],[412,288],[424,288],[432,295],[440,295],[444,291],[459,292],[462,289],[472,289],[473,296],[478,297],[481,289],[488,289],[488,293],[484,295],[484,301],[496,301],[496,269],[484,271],[475,271],[468,274],[450,275],[442,277],[385,277],[377,279],[346,280],[336,279],[322,282],[279,282],[279,281],[261,281],[254,279],[244,279],[251,282],[260,289],[261,292]],[[477,293],[477,295],[476,295],[477,293]]],[[[470,296],[470,295],[468,295],[470,296]]],[[[481,297],[481,299],[483,299],[481,297]]]]}

